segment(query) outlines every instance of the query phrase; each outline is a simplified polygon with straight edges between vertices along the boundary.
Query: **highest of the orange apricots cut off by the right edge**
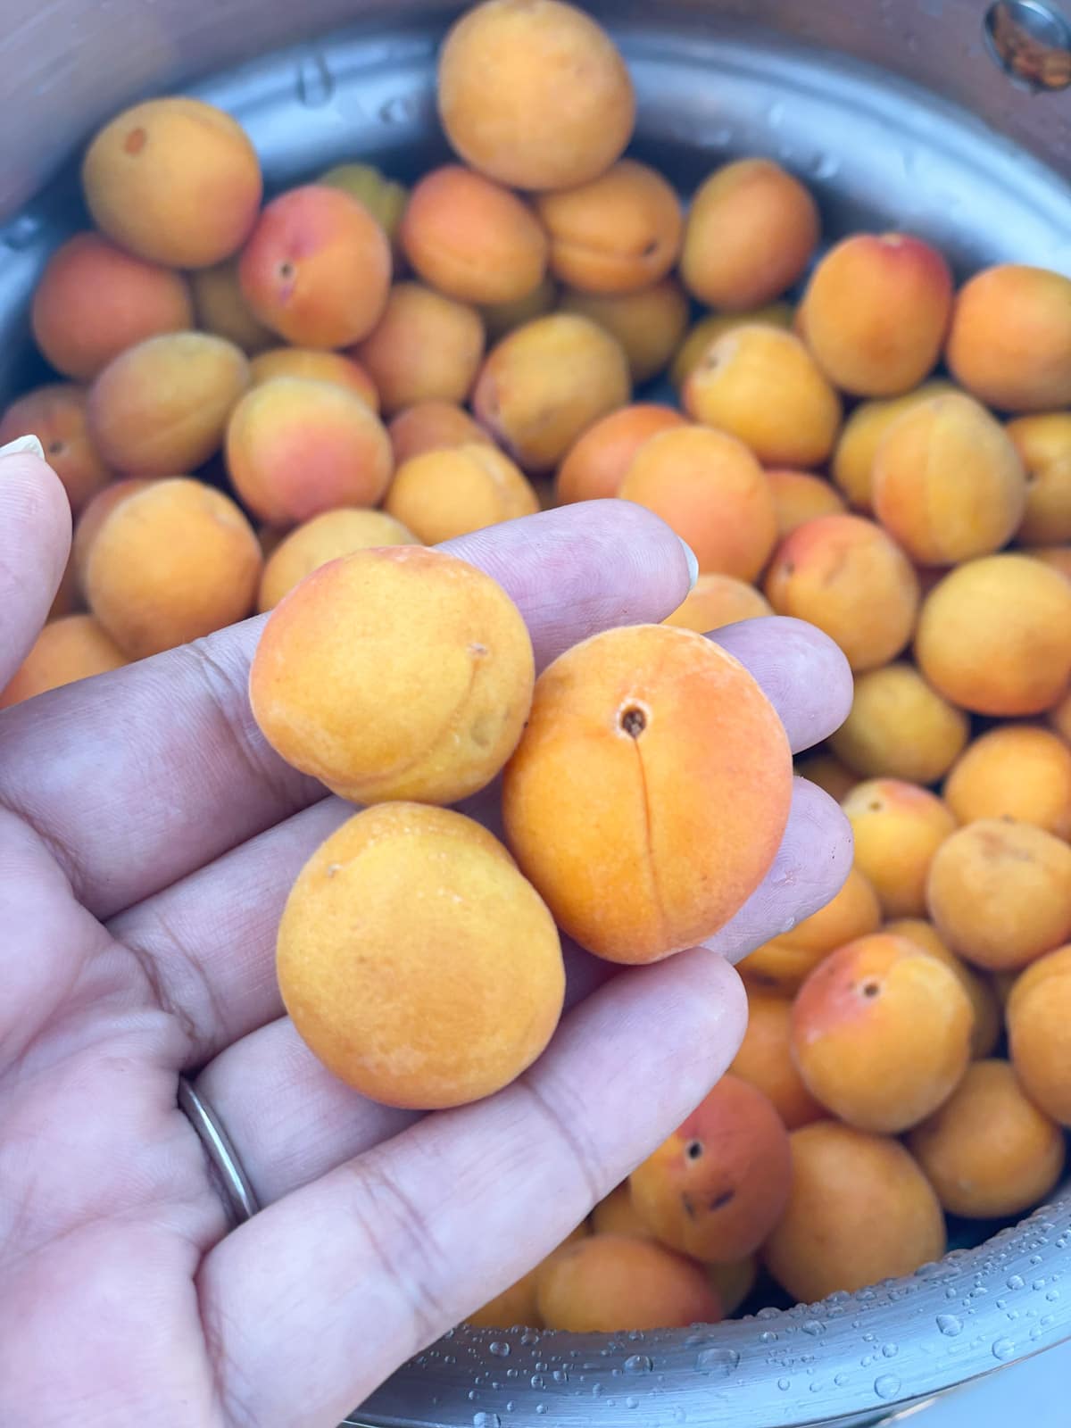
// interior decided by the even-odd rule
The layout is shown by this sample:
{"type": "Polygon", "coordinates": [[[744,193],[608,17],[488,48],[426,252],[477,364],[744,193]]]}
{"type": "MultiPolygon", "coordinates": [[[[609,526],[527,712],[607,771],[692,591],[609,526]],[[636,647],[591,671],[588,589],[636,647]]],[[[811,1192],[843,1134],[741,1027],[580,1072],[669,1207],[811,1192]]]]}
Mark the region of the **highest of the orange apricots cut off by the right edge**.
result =
{"type": "Polygon", "coordinates": [[[987,407],[1045,411],[1071,403],[1071,280],[1001,263],[955,297],[945,360],[987,407]]]}

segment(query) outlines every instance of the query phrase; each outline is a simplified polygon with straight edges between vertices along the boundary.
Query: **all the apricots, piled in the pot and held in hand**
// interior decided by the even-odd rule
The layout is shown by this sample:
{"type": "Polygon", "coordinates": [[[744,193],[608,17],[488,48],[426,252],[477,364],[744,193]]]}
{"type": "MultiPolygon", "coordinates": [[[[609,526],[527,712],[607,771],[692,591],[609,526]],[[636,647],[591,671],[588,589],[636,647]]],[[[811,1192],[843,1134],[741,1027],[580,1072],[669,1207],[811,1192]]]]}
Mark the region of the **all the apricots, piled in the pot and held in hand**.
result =
{"type": "Polygon", "coordinates": [[[0,420],[76,521],[1,701],[271,611],[256,718],[366,805],[291,891],[283,995],[337,1075],[430,1110],[540,1055],[558,928],[651,961],[757,887],[791,761],[710,634],[813,623],[855,701],[797,773],[848,815],[851,874],[741,962],[730,1074],[473,1321],[677,1325],[910,1272],[947,1217],[1042,1201],[1071,1125],[1071,280],[830,241],[761,156],[683,201],[561,0],[477,4],[437,97],[456,159],[411,188],[354,161],[266,201],[190,97],[96,134],[96,228],[31,304],[54,377],[0,420]],[[537,680],[504,591],[431,547],[595,498],[700,575],[537,680]],[[448,807],[503,771],[504,843],[448,807]]]}

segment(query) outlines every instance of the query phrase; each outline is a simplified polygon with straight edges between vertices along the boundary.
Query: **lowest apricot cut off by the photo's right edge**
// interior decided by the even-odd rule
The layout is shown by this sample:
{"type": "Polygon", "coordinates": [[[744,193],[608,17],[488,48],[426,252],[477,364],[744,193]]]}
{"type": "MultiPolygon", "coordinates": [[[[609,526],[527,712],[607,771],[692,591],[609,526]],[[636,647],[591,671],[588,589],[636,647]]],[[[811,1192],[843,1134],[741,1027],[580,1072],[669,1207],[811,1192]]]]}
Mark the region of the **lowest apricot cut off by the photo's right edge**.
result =
{"type": "Polygon", "coordinates": [[[1071,1125],[1071,945],[1031,962],[1005,1008],[1011,1064],[1031,1101],[1071,1125]]]}

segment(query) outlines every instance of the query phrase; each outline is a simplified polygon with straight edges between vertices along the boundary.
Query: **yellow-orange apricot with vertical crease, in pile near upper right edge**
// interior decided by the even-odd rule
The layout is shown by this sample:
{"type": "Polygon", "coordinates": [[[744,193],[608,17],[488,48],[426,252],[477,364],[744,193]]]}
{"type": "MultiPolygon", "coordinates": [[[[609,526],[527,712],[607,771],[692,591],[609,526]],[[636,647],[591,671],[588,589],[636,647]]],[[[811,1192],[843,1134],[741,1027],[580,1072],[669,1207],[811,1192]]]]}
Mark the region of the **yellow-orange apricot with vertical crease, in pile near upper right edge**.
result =
{"type": "Polygon", "coordinates": [[[1010,437],[960,393],[917,401],[900,417],[878,446],[871,486],[878,520],[922,565],[1000,550],[1027,498],[1010,437]]]}

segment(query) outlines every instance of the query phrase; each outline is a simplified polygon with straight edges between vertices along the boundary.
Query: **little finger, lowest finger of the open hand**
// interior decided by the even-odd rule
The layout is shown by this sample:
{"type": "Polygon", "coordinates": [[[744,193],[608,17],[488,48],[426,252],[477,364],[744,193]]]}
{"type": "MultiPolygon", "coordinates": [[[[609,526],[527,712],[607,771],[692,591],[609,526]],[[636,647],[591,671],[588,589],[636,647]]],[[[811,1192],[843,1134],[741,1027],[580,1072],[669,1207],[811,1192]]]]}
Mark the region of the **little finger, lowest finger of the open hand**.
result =
{"type": "Polygon", "coordinates": [[[198,1295],[234,1417],[337,1422],[650,1154],[725,1070],[744,1020],[711,952],[630,970],[506,1091],[426,1117],[223,1240],[198,1295]]]}

